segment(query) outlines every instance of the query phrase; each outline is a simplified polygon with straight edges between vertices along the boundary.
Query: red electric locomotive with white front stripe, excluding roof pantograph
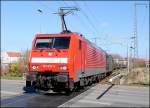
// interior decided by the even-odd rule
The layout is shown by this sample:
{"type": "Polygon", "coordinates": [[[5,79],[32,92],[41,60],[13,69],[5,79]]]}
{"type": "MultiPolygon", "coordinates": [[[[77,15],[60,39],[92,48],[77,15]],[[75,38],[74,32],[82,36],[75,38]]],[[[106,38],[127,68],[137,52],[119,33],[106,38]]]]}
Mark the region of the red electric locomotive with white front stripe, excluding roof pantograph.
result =
{"type": "Polygon", "coordinates": [[[27,87],[70,91],[105,75],[106,53],[77,33],[37,34],[28,69],[27,87]]]}

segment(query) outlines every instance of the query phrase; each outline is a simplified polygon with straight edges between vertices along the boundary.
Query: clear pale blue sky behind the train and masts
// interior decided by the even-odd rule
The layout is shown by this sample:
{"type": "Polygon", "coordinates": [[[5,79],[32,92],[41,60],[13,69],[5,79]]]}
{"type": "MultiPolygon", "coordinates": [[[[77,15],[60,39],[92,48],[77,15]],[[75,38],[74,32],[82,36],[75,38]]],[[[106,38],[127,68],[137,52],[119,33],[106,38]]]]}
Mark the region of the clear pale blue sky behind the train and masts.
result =
{"type": "MultiPolygon", "coordinates": [[[[1,49],[23,51],[31,48],[37,33],[60,33],[59,7],[76,6],[80,11],[66,17],[68,28],[87,39],[97,37],[97,45],[109,53],[126,56],[133,36],[134,3],[131,1],[2,1],[1,49]],[[37,12],[42,9],[43,13],[37,12]]],[[[146,3],[148,1],[137,1],[146,3]]],[[[137,7],[139,57],[149,55],[149,6],[137,7]]]]}

